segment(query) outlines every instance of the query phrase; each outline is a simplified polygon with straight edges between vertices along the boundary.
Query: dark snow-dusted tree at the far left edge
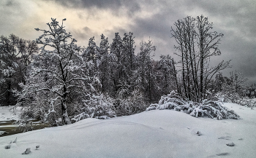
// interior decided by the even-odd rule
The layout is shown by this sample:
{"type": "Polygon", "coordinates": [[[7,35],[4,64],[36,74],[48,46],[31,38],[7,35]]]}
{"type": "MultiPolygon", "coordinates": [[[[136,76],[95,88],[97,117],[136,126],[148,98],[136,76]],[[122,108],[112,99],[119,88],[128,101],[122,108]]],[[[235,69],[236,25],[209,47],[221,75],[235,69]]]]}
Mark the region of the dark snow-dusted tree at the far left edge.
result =
{"type": "Polygon", "coordinates": [[[11,34],[0,37],[0,102],[14,105],[12,90],[19,90],[19,82],[24,82],[26,68],[31,55],[37,53],[37,44],[11,34]]]}

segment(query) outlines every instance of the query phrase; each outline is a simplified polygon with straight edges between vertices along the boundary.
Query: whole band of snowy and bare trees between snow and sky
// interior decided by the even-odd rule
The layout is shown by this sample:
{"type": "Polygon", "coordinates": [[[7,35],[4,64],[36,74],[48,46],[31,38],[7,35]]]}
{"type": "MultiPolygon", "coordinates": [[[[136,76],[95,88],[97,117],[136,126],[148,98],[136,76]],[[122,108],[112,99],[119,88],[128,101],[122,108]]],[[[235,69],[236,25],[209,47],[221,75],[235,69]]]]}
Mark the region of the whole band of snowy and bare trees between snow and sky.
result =
{"type": "Polygon", "coordinates": [[[87,47],[79,47],[71,33],[52,19],[35,41],[18,36],[0,39],[0,104],[23,106],[26,116],[43,119],[45,114],[70,124],[88,114],[123,116],[145,111],[162,95],[173,90],[182,98],[200,102],[218,92],[255,97],[255,84],[247,85],[238,72],[222,76],[229,61],[211,66],[210,58],[221,55],[220,39],[207,17],[177,20],[170,34],[176,39],[175,61],[170,55],[154,60],[157,47],[142,41],[135,54],[135,36],[103,34],[87,47]],[[211,95],[209,95],[211,94],[211,95]]]}

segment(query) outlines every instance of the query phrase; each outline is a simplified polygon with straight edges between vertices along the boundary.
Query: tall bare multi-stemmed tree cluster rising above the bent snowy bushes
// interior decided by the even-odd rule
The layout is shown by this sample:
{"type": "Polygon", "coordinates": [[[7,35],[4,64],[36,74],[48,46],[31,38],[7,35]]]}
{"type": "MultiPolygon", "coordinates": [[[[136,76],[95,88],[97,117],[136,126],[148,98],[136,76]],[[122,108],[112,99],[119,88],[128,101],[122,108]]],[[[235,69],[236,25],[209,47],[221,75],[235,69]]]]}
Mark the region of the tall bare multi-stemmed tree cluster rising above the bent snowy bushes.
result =
{"type": "Polygon", "coordinates": [[[202,100],[212,77],[217,72],[227,68],[230,60],[210,66],[210,58],[221,55],[218,48],[223,33],[211,31],[213,23],[208,23],[208,17],[203,15],[185,17],[177,20],[171,34],[178,45],[175,52],[181,58],[182,91],[189,100],[202,100]]]}

